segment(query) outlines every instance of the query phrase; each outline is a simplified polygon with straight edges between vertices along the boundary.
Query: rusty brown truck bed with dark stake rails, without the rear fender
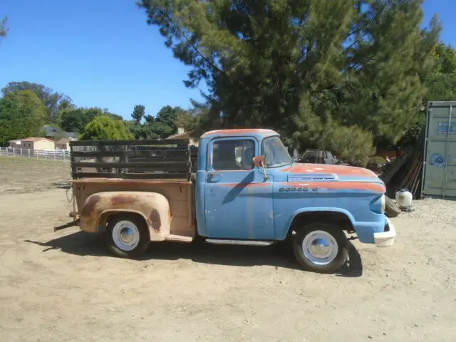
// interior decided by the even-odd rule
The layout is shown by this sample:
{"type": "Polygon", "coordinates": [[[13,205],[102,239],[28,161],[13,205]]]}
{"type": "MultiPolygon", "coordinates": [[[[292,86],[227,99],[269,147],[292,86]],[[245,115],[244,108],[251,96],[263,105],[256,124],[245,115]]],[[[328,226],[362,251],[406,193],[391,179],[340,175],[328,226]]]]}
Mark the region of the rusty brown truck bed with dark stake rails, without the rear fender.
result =
{"type": "Polygon", "coordinates": [[[76,213],[98,192],[156,192],[170,203],[170,234],[195,235],[197,147],[190,140],[87,140],[70,142],[76,213]]]}

